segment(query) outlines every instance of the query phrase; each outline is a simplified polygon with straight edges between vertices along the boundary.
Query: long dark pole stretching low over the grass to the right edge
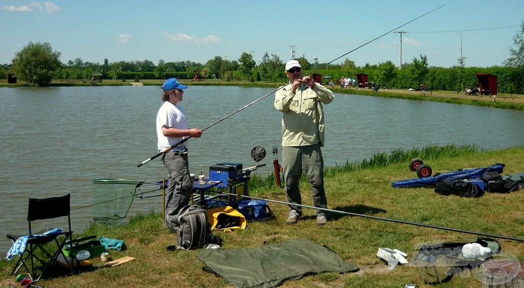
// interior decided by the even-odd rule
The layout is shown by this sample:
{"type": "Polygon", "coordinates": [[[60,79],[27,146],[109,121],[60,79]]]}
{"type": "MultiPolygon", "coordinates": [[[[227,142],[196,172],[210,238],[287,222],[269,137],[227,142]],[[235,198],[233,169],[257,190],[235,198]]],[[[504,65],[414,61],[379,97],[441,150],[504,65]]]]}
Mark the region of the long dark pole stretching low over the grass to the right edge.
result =
{"type": "MultiPolygon", "coordinates": [[[[220,192],[220,194],[238,196],[237,194],[226,193],[226,192],[220,192]]],[[[247,197],[247,198],[256,199],[256,200],[264,200],[264,201],[268,201],[268,202],[275,202],[275,203],[279,203],[279,204],[286,204],[286,205],[291,204],[289,202],[283,202],[283,201],[278,201],[278,200],[270,200],[270,199],[264,199],[264,198],[257,198],[257,197],[252,197],[252,196],[248,196],[248,195],[242,195],[242,197],[247,197]]],[[[514,241],[524,242],[524,239],[516,238],[516,237],[488,234],[488,233],[482,233],[482,232],[476,232],[476,231],[467,231],[467,230],[456,229],[456,228],[448,228],[448,227],[442,227],[442,226],[436,226],[436,225],[430,225],[430,224],[423,224],[423,223],[417,223],[417,222],[396,220],[396,219],[391,219],[391,218],[370,216],[370,215],[365,215],[365,214],[358,214],[358,213],[352,213],[352,212],[346,212],[346,211],[340,211],[340,210],[333,210],[333,209],[327,209],[327,208],[318,208],[318,207],[314,207],[314,206],[294,204],[294,203],[291,204],[291,205],[300,206],[300,207],[303,207],[303,208],[310,208],[310,209],[315,209],[315,210],[321,210],[321,211],[324,211],[324,212],[334,212],[334,213],[340,213],[340,214],[351,215],[351,216],[365,217],[365,218],[370,218],[370,219],[375,219],[375,220],[396,222],[396,223],[401,223],[401,224],[409,224],[409,225],[415,225],[415,226],[421,226],[421,227],[427,227],[427,228],[434,228],[434,229],[440,229],[440,230],[447,230],[447,231],[453,231],[453,232],[461,232],[461,233],[466,233],[466,234],[474,234],[474,235],[479,235],[479,236],[486,236],[486,237],[492,237],[492,238],[500,238],[500,239],[507,239],[507,240],[514,240],[514,241]]]]}

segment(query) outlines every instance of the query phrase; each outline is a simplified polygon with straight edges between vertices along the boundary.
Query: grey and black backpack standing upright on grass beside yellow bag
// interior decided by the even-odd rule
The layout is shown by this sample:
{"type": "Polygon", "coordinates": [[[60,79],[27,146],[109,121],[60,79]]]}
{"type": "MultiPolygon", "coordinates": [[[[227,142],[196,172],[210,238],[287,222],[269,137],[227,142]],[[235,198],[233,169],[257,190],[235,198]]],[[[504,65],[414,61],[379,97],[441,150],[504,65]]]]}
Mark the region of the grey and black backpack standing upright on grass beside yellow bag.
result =
{"type": "Polygon", "coordinates": [[[177,215],[177,250],[195,249],[211,243],[213,234],[208,212],[197,205],[188,205],[177,215]]]}

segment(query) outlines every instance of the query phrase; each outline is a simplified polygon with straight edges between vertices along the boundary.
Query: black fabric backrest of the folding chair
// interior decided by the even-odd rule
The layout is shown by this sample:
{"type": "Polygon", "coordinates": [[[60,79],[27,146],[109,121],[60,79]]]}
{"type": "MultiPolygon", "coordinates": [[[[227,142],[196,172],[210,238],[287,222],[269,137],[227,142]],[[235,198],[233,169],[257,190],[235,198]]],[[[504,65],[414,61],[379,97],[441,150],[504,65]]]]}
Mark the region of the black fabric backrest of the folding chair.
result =
{"type": "Polygon", "coordinates": [[[62,197],[29,198],[27,221],[43,220],[70,215],[71,194],[62,197]]]}

